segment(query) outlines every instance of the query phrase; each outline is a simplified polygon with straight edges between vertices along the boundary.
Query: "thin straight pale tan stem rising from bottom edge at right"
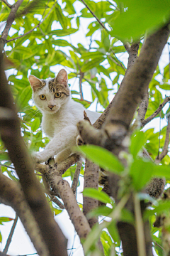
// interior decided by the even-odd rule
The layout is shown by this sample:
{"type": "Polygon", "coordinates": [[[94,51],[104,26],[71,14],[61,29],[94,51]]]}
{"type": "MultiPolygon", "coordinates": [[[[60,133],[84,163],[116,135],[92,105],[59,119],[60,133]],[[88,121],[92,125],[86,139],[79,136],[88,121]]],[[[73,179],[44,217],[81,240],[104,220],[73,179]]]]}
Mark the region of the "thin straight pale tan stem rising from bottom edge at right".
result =
{"type": "Polygon", "coordinates": [[[140,199],[137,197],[137,193],[134,195],[134,208],[135,208],[135,226],[137,233],[137,248],[139,256],[147,256],[145,248],[145,233],[142,220],[142,213],[140,208],[140,199]]]}

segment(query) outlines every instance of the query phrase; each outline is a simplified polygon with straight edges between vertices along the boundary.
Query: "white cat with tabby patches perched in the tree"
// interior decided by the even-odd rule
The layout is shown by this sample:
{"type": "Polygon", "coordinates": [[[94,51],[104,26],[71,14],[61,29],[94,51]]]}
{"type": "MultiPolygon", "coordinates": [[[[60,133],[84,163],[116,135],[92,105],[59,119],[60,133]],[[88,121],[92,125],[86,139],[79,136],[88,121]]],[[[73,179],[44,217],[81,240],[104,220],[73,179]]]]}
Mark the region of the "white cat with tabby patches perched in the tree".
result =
{"type": "MultiPolygon", "coordinates": [[[[44,162],[57,155],[57,163],[64,161],[74,153],[76,146],[77,122],[84,119],[85,108],[71,98],[67,72],[62,69],[56,78],[40,80],[34,75],[29,76],[33,89],[33,100],[42,112],[42,130],[51,140],[44,151],[33,153],[33,159],[44,162]]],[[[93,124],[100,116],[98,112],[86,110],[87,117],[93,124]]]]}

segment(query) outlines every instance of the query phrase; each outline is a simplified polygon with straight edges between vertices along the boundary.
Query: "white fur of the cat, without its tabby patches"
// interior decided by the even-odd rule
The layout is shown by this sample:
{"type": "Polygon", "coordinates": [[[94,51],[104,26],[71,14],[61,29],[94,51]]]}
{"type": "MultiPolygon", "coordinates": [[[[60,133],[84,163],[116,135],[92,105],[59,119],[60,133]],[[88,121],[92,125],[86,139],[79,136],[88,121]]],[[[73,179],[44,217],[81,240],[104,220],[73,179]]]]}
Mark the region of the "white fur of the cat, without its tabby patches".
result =
{"type": "MultiPolygon", "coordinates": [[[[70,97],[55,98],[52,92],[49,92],[48,82],[42,90],[33,92],[35,105],[42,112],[42,130],[51,140],[45,146],[44,151],[34,153],[35,161],[44,162],[57,155],[56,161],[61,162],[74,153],[72,147],[76,146],[76,139],[79,135],[77,131],[77,122],[84,119],[84,108],[78,102],[70,97]],[[45,95],[46,100],[40,100],[39,95],[45,95]],[[50,110],[48,105],[55,105],[50,110]]],[[[100,116],[98,112],[86,110],[87,117],[93,124],[100,116]]]]}

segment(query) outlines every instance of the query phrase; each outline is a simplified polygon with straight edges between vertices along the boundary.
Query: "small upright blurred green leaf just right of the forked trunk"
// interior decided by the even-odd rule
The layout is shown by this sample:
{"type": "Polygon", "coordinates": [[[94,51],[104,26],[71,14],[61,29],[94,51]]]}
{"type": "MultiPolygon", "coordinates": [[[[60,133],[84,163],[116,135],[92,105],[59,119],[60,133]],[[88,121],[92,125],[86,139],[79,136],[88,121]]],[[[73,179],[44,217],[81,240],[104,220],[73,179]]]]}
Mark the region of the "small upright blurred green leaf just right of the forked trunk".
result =
{"type": "Polygon", "coordinates": [[[145,145],[145,142],[146,139],[144,132],[135,132],[135,134],[132,134],[130,153],[133,155],[134,159],[136,158],[139,151],[142,149],[142,146],[145,145]]]}

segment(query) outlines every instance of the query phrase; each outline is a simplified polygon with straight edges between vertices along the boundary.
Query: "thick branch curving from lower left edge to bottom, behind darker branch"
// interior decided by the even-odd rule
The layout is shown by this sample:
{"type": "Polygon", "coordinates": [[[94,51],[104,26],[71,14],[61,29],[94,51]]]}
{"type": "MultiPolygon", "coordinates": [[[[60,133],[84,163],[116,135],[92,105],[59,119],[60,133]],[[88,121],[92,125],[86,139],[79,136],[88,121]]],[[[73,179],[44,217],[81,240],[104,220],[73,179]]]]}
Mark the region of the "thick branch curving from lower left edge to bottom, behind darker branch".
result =
{"type": "Polygon", "coordinates": [[[0,183],[0,202],[11,206],[16,211],[38,255],[49,255],[45,242],[40,234],[40,228],[33,217],[33,213],[31,213],[20,184],[16,183],[16,181],[11,181],[11,179],[3,174],[0,174],[0,183]]]}

